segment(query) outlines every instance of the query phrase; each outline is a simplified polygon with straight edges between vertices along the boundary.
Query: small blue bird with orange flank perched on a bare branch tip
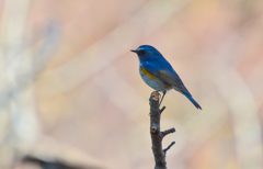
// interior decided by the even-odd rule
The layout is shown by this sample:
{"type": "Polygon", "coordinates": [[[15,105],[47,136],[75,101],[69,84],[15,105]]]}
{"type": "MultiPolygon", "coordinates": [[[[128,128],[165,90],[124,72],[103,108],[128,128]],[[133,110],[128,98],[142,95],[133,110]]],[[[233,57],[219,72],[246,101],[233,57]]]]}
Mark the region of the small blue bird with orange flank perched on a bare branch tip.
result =
{"type": "Polygon", "coordinates": [[[197,109],[202,110],[201,105],[193,99],[173,67],[158,49],[150,45],[141,45],[137,49],[132,49],[130,52],[138,55],[139,72],[142,80],[156,91],[163,93],[160,104],[167,91],[174,89],[185,95],[197,109]]]}

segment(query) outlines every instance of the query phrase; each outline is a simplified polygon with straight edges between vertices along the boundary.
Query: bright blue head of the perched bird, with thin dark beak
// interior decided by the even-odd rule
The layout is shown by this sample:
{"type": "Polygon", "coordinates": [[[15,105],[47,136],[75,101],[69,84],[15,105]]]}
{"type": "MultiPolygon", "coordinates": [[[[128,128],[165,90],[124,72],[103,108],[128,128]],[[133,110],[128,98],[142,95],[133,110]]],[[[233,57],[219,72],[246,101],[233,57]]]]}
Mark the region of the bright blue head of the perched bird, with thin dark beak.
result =
{"type": "Polygon", "coordinates": [[[137,49],[132,49],[130,52],[136,53],[140,61],[146,61],[148,59],[155,59],[162,56],[155,47],[150,45],[141,45],[137,49]]]}

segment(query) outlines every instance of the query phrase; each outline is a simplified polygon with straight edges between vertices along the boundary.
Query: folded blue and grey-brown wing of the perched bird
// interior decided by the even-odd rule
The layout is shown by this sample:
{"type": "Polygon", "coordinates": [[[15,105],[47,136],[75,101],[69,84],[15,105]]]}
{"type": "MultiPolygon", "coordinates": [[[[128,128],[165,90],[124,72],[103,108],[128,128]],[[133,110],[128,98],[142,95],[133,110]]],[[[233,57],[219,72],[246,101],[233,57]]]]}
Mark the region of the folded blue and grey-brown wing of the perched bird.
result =
{"type": "Polygon", "coordinates": [[[188,90],[184,87],[182,80],[180,79],[179,75],[173,70],[169,63],[155,63],[155,61],[145,61],[144,64],[145,69],[153,75],[155,77],[163,80],[164,82],[173,86],[175,90],[183,94],[187,94],[191,97],[188,90]]]}

